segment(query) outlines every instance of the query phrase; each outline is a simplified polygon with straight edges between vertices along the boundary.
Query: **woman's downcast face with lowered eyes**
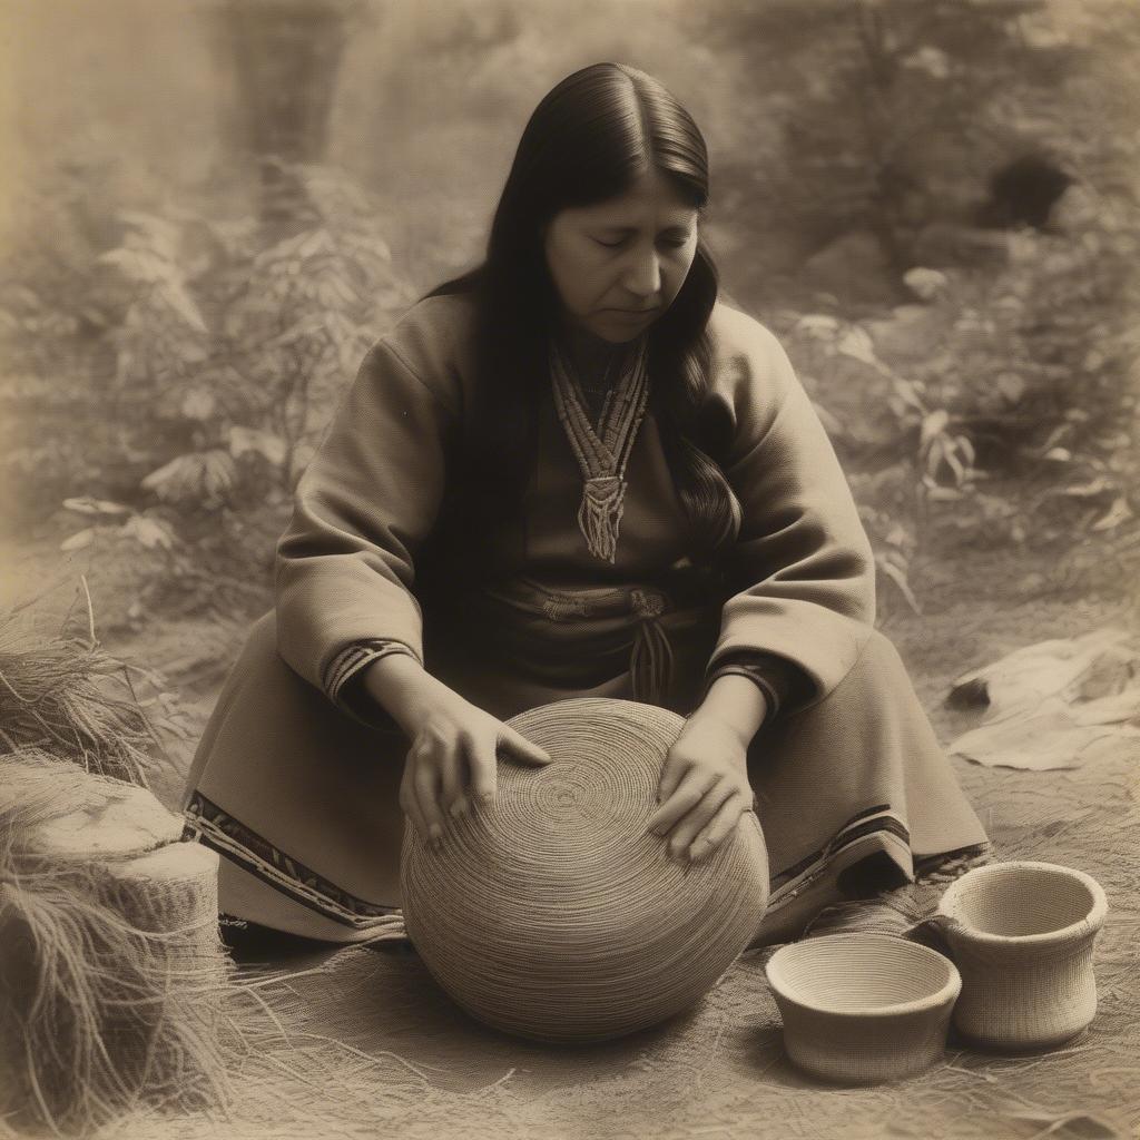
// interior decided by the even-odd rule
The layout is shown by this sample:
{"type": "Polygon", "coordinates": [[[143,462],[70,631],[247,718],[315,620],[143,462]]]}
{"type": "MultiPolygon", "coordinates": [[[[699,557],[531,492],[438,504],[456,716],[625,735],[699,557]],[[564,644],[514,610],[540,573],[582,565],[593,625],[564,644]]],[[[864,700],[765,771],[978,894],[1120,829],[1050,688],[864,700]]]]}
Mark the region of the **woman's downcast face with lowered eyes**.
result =
{"type": "Polygon", "coordinates": [[[697,209],[656,169],[555,214],[544,249],[563,318],[614,344],[638,336],[681,292],[698,236],[697,209]]]}

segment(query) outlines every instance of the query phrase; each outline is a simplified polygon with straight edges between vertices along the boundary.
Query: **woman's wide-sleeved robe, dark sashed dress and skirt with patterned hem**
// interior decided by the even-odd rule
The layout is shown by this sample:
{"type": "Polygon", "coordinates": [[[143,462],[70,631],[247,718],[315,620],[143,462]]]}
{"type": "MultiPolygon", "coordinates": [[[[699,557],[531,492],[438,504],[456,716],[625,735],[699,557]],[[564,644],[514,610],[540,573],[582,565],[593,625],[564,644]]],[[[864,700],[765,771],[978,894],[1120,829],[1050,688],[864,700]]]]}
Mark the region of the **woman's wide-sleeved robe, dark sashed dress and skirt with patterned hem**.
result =
{"type": "Polygon", "coordinates": [[[223,856],[222,911],[333,940],[391,921],[409,742],[359,679],[393,651],[502,719],[570,697],[684,716],[722,671],[750,676],[771,706],[749,749],[772,870],[760,935],[793,929],[871,856],[910,878],[984,847],[873,627],[868,539],[787,356],[723,303],[709,331],[708,410],[730,424],[722,467],[742,511],[728,557],[690,562],[651,412],[629,454],[616,560],[592,554],[581,472],[547,397],[524,511],[491,573],[471,575],[451,549],[431,591],[417,557],[446,548],[429,539],[471,404],[473,303],[421,301],[369,351],[298,486],[275,609],[251,629],[188,780],[188,833],[223,856]]]}

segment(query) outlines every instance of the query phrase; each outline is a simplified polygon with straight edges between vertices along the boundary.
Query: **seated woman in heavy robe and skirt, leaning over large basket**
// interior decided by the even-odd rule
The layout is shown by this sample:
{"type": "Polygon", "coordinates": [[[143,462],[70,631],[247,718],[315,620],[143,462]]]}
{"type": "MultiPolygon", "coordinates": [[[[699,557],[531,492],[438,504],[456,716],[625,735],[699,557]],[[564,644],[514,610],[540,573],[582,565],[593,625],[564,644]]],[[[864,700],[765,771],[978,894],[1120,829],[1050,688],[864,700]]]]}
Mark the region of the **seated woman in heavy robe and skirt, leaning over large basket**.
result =
{"type": "Polygon", "coordinates": [[[890,644],[831,446],[774,337],[717,300],[703,139],[653,79],[570,75],[528,123],[484,263],[367,355],[195,757],[220,907],[329,940],[399,904],[495,793],[503,722],[570,697],[686,717],[651,829],[705,858],[757,811],[762,936],[853,874],[986,837],[890,644]],[[410,747],[409,747],[410,746],[410,747]]]}

